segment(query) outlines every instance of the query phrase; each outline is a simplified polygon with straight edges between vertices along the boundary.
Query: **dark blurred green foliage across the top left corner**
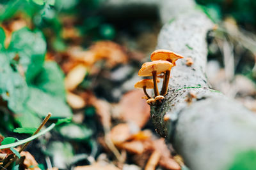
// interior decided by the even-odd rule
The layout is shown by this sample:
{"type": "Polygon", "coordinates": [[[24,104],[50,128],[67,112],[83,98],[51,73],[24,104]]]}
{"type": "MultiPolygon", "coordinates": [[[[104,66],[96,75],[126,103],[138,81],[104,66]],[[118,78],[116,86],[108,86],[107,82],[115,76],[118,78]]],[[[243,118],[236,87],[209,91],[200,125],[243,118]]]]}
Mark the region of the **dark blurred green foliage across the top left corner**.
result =
{"type": "MultiPolygon", "coordinates": [[[[3,0],[0,2],[0,22],[16,15],[24,15],[51,41],[48,48],[62,52],[68,39],[63,39],[64,27],[75,27],[83,37],[83,44],[97,39],[115,38],[115,27],[97,13],[100,3],[106,0],[3,0]],[[65,17],[70,17],[65,20],[65,17]]],[[[1,34],[1,32],[0,32],[1,34]]]]}

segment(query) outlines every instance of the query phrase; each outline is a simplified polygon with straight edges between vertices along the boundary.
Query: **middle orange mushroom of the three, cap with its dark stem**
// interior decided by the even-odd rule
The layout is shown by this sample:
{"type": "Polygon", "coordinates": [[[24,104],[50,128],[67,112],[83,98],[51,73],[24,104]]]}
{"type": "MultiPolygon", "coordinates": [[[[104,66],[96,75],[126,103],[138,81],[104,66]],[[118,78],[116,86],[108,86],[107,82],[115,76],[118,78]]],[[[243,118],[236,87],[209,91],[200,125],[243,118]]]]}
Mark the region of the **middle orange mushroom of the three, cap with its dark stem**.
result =
{"type": "Polygon", "coordinates": [[[171,70],[173,64],[164,61],[164,60],[155,60],[151,62],[146,62],[146,64],[143,64],[139,71],[139,76],[153,76],[153,82],[154,82],[154,94],[155,97],[159,96],[159,91],[157,87],[157,74],[171,70]]]}

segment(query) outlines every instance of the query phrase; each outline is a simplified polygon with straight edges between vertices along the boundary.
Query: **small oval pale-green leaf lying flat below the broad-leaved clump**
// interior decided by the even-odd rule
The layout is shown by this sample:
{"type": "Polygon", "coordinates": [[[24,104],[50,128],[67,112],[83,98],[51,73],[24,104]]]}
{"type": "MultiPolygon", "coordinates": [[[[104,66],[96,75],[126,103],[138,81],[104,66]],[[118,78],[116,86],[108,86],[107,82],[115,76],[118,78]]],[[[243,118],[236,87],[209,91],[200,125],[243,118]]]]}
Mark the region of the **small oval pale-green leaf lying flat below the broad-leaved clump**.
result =
{"type": "Polygon", "coordinates": [[[62,136],[68,139],[85,140],[92,136],[92,130],[77,124],[66,124],[58,128],[62,136]]]}

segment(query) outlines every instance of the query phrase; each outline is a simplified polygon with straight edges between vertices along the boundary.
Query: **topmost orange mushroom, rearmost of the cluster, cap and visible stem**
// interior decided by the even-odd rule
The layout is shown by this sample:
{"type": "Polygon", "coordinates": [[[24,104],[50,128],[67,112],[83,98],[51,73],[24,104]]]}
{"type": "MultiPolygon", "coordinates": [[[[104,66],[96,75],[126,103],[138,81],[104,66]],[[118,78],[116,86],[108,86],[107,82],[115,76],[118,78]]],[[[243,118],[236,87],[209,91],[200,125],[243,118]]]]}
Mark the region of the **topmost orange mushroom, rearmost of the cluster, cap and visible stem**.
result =
{"type": "MultiPolygon", "coordinates": [[[[176,66],[176,63],[175,63],[176,60],[182,59],[183,57],[175,52],[170,51],[170,50],[159,49],[159,50],[155,50],[154,52],[152,52],[150,58],[153,61],[154,60],[166,60],[168,62],[172,62],[173,66],[176,66]]],[[[161,96],[164,96],[167,93],[168,83],[169,83],[169,79],[170,79],[170,73],[171,73],[171,69],[167,70],[164,73],[164,80],[163,80],[163,87],[161,90],[161,96]]]]}

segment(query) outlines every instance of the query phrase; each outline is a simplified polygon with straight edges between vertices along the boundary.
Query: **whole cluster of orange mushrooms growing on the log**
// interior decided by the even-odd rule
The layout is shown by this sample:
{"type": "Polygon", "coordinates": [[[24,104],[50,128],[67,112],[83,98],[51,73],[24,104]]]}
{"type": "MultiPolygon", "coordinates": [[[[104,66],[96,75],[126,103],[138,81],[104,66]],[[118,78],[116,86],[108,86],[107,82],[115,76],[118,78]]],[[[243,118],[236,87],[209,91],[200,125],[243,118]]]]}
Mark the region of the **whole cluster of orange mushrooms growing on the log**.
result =
{"type": "Polygon", "coordinates": [[[176,60],[182,58],[181,55],[170,50],[159,49],[151,53],[150,59],[152,61],[142,64],[138,73],[139,76],[152,76],[153,79],[138,81],[134,87],[143,89],[146,95],[143,98],[147,99],[148,104],[154,105],[162,102],[164,96],[167,94],[171,69],[173,66],[176,66],[176,60]],[[163,76],[159,74],[163,74],[163,76]],[[163,78],[163,86],[160,94],[157,87],[157,77],[163,78]],[[154,98],[148,95],[146,89],[154,89],[154,98]]]}

